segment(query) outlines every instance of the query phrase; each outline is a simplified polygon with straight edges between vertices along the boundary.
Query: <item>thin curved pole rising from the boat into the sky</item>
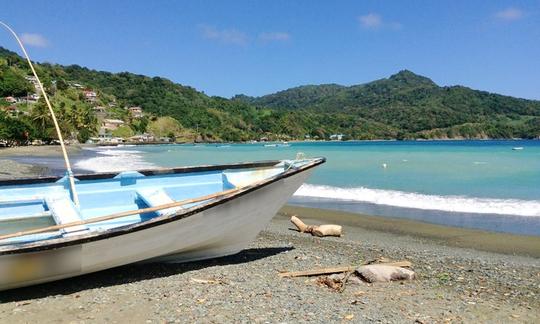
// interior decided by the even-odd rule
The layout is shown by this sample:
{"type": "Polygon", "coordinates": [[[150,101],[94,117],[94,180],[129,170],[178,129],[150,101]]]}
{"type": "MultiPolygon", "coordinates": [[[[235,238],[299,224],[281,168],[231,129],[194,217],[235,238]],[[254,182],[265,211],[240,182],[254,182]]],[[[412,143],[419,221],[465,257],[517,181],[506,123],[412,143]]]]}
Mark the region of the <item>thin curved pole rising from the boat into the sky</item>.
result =
{"type": "Polygon", "coordinates": [[[34,69],[34,65],[32,64],[32,61],[30,60],[30,56],[28,56],[28,53],[26,52],[26,49],[24,48],[23,43],[19,39],[19,36],[17,36],[17,33],[11,27],[9,27],[4,22],[0,21],[0,25],[4,26],[11,34],[13,34],[13,37],[17,40],[17,43],[19,43],[19,46],[21,47],[24,56],[26,57],[26,61],[28,62],[28,65],[30,65],[30,69],[32,70],[32,73],[34,74],[34,77],[36,78],[36,81],[39,84],[39,88],[41,90],[41,93],[43,94],[43,98],[45,98],[45,103],[47,104],[47,107],[49,108],[49,112],[51,113],[51,117],[54,123],[54,128],[56,129],[56,134],[58,135],[58,140],[60,141],[60,147],[62,148],[62,154],[64,155],[64,162],[66,163],[66,173],[69,178],[69,186],[71,188],[71,196],[73,198],[73,203],[76,206],[79,206],[79,197],[77,195],[77,190],[75,189],[75,178],[73,177],[73,171],[71,171],[71,163],[69,162],[69,158],[66,151],[66,146],[64,145],[64,138],[62,136],[62,132],[60,131],[60,126],[58,126],[58,121],[56,120],[56,115],[54,114],[54,110],[52,109],[51,102],[49,101],[49,97],[47,96],[47,93],[45,92],[45,88],[43,87],[43,84],[41,83],[41,80],[39,79],[39,76],[36,73],[36,70],[34,69]]]}

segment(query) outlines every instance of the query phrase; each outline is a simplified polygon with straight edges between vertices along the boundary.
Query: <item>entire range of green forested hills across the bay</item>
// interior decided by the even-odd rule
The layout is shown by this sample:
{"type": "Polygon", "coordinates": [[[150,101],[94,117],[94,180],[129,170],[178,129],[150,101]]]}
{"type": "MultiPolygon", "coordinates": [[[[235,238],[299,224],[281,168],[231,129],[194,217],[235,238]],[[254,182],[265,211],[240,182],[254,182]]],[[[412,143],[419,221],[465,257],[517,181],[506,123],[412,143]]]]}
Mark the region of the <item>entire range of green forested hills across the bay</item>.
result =
{"type": "MultiPolygon", "coordinates": [[[[207,96],[164,78],[78,65],[38,64],[38,73],[47,88],[57,91],[56,101],[68,105],[68,117],[70,111],[89,109],[68,86],[80,84],[97,93],[99,104],[111,104],[115,109],[140,106],[151,118],[172,116],[184,131],[200,140],[328,139],[338,133],[347,139],[540,136],[539,101],[461,86],[439,87],[410,71],[362,85],[308,85],[232,99],[207,96]]],[[[0,47],[2,97],[27,92],[31,85],[24,76],[28,74],[22,58],[0,47]]],[[[0,98],[2,105],[7,103],[0,98]]],[[[118,116],[125,117],[121,112],[118,116]]],[[[145,131],[140,124],[132,128],[145,131]]]]}

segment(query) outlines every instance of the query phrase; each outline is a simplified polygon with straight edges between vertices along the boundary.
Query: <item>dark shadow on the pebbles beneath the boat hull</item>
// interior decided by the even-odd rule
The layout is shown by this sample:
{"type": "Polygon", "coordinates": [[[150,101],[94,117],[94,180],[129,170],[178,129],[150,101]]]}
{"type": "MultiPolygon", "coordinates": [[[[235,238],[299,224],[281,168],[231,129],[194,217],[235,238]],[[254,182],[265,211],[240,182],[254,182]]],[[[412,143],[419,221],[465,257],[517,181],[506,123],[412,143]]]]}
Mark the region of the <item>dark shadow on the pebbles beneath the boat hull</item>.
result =
{"type": "Polygon", "coordinates": [[[0,303],[44,298],[54,295],[70,295],[88,289],[123,285],[156,278],[166,278],[213,266],[242,264],[264,259],[293,249],[294,247],[289,246],[251,248],[226,257],[188,263],[136,263],[36,286],[1,291],[0,303]]]}

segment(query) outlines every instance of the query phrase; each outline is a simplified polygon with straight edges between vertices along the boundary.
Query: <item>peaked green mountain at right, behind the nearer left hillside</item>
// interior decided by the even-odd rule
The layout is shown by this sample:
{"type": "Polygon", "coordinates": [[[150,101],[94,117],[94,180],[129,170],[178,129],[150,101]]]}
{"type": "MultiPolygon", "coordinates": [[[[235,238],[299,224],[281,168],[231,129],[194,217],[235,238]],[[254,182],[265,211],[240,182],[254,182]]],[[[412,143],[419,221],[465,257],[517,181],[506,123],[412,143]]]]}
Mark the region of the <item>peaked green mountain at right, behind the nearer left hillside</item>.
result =
{"type": "MultiPolygon", "coordinates": [[[[302,86],[237,100],[295,112],[354,116],[387,126],[390,137],[511,138],[540,135],[540,101],[462,86],[439,87],[411,71],[362,85],[302,86]],[[319,90],[318,90],[319,89],[319,90]]],[[[355,132],[352,134],[363,136],[355,132]]],[[[346,132],[351,134],[351,132],[346,132]]]]}

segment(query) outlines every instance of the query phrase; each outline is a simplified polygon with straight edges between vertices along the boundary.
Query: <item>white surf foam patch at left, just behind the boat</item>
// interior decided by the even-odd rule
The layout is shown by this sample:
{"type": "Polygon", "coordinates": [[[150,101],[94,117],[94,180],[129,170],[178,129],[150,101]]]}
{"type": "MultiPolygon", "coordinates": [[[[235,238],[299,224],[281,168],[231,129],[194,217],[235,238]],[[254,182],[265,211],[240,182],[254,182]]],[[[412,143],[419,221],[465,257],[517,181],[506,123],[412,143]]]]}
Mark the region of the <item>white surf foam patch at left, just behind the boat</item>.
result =
{"type": "Polygon", "coordinates": [[[156,168],[157,166],[146,162],[142,152],[117,148],[86,148],[95,151],[98,156],[75,163],[77,169],[93,172],[116,172],[126,170],[140,170],[156,168]]]}

